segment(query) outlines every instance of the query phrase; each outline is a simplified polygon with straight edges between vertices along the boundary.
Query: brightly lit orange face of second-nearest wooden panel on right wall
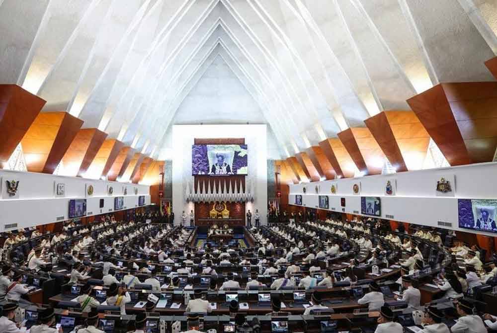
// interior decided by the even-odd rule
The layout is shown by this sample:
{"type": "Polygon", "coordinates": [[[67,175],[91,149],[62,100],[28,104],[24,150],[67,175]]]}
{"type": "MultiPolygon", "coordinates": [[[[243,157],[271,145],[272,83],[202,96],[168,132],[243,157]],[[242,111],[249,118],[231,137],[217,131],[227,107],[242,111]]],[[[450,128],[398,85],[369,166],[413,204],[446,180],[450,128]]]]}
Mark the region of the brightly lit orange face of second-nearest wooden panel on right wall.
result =
{"type": "Polygon", "coordinates": [[[389,110],[385,114],[408,170],[421,169],[430,143],[423,124],[411,110],[389,110]]]}

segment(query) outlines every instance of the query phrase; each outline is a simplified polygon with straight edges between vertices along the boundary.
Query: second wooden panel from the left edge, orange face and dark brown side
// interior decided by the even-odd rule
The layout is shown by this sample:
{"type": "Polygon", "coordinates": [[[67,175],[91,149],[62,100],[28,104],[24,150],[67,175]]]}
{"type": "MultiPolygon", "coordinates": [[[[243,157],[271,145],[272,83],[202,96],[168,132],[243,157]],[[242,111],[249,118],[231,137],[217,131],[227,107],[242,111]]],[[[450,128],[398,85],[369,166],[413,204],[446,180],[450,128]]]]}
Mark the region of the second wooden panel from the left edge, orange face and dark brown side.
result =
{"type": "Polygon", "coordinates": [[[67,112],[42,112],[21,141],[28,171],[53,173],[83,125],[67,112]]]}

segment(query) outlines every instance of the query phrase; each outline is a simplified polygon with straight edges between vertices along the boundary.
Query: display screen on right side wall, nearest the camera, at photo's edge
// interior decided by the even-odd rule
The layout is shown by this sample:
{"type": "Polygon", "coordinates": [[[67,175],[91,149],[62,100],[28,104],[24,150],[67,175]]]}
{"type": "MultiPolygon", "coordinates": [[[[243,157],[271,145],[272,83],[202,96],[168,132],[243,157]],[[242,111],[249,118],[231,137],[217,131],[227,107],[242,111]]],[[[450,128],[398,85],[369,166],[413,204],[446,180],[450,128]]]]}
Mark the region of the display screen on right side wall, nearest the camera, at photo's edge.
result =
{"type": "Polygon", "coordinates": [[[496,199],[457,199],[459,228],[497,233],[496,199]]]}

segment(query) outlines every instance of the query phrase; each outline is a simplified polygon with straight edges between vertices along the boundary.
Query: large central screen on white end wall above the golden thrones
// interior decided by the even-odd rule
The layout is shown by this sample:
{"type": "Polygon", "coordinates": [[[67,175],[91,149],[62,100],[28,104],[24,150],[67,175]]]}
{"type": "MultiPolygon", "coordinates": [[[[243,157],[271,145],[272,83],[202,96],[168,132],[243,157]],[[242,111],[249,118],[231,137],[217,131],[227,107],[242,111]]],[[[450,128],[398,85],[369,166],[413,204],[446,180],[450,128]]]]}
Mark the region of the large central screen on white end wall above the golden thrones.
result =
{"type": "Polygon", "coordinates": [[[248,174],[247,145],[192,145],[192,175],[248,174]]]}

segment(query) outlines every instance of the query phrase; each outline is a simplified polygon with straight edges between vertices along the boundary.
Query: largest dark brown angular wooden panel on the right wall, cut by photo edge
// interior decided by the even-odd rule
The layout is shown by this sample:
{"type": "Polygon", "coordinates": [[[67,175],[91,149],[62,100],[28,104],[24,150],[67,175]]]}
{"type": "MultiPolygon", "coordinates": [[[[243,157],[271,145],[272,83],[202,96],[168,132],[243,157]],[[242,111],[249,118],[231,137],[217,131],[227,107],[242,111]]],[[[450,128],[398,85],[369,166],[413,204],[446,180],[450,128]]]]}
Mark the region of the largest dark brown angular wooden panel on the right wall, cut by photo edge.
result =
{"type": "Polygon", "coordinates": [[[441,83],[408,103],[451,166],[492,161],[496,82],[441,83]]]}

